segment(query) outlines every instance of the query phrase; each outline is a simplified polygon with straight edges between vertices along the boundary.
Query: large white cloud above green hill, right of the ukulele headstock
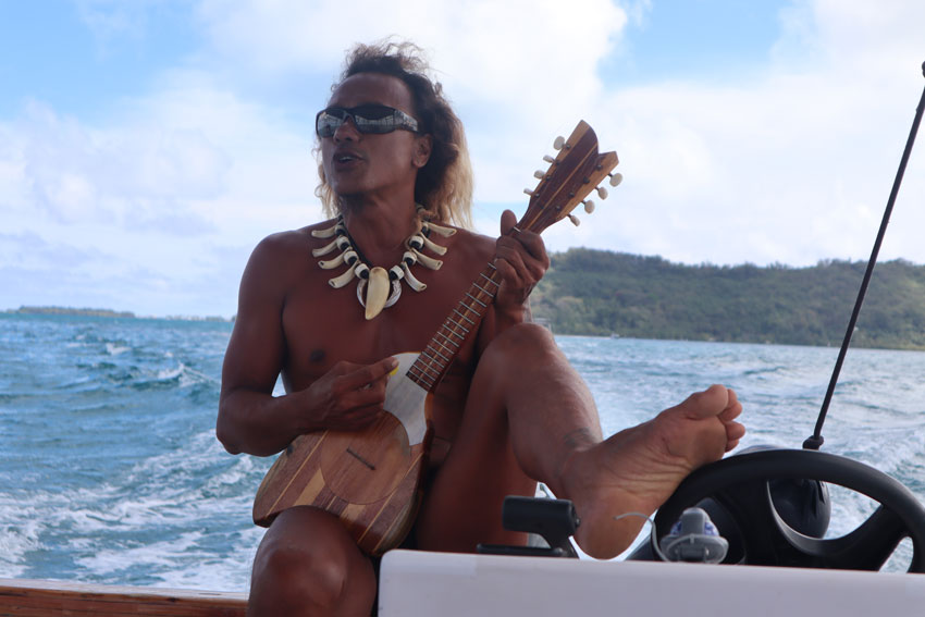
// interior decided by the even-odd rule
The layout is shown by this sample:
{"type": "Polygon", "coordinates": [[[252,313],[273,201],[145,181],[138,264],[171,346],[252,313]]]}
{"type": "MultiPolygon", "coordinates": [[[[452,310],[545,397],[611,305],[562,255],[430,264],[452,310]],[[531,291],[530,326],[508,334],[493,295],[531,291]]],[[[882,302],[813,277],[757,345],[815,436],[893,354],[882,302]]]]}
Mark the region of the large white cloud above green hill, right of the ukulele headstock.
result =
{"type": "MultiPolygon", "coordinates": [[[[626,182],[593,225],[547,244],[684,262],[865,259],[922,91],[925,5],[801,2],[781,20],[772,61],[731,85],[605,92],[589,120],[626,182]]],[[[923,171],[918,155],[884,258],[925,261],[923,171]]]]}

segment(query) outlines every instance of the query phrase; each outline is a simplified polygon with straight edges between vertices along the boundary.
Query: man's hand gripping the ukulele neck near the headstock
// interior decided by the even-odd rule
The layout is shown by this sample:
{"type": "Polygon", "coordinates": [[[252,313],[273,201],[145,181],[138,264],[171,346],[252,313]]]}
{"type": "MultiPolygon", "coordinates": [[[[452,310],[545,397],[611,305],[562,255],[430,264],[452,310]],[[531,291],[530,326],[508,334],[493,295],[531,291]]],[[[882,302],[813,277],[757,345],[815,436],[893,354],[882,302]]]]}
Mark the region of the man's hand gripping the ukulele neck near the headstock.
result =
{"type": "Polygon", "coordinates": [[[495,306],[504,313],[520,313],[527,307],[527,297],[550,268],[550,257],[540,234],[534,232],[507,232],[517,224],[510,210],[501,215],[501,233],[495,249],[495,268],[502,285],[495,306]]]}

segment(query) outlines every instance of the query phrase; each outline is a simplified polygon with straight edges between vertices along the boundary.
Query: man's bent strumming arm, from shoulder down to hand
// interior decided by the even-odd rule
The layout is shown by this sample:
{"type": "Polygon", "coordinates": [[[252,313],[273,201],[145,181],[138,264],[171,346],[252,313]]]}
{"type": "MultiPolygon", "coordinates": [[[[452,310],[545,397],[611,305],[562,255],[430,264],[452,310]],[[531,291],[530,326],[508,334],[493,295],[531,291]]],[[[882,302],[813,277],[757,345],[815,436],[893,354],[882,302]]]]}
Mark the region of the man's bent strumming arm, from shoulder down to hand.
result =
{"type": "Polygon", "coordinates": [[[273,396],[286,349],[282,314],[293,274],[293,236],[271,236],[254,250],[240,281],[238,312],[225,360],[215,434],[232,454],[269,456],[303,433],[356,430],[382,411],[394,358],[336,362],[307,388],[273,396]]]}

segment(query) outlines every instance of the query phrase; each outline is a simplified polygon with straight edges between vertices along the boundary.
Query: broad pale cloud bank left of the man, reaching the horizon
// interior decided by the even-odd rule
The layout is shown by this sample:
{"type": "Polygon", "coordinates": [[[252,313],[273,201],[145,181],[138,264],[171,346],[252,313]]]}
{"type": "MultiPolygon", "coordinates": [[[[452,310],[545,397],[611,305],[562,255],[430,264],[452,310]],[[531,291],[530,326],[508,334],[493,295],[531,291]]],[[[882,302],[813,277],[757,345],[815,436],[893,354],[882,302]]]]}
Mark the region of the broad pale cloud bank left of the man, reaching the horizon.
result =
{"type": "Polygon", "coordinates": [[[96,124],[39,101],[0,123],[3,306],[230,316],[257,242],[319,217],[310,141],[188,77],[96,124]]]}

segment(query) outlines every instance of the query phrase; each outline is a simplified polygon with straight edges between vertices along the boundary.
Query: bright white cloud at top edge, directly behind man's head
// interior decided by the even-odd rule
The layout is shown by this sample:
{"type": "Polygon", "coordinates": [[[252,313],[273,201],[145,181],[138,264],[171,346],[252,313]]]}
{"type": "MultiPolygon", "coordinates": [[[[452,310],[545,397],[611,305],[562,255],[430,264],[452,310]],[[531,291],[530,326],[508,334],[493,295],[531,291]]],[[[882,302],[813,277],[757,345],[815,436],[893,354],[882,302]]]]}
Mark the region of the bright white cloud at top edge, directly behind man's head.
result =
{"type": "Polygon", "coordinates": [[[539,161],[554,132],[569,129],[600,96],[599,63],[627,23],[608,0],[574,1],[567,10],[557,0],[399,0],[387,8],[362,0],[349,10],[333,0],[206,0],[198,14],[237,71],[323,75],[319,108],[356,42],[415,41],[467,124],[478,196],[490,201],[516,197],[525,173],[517,161],[539,161]],[[340,27],[345,21],[349,27],[340,27]]]}

